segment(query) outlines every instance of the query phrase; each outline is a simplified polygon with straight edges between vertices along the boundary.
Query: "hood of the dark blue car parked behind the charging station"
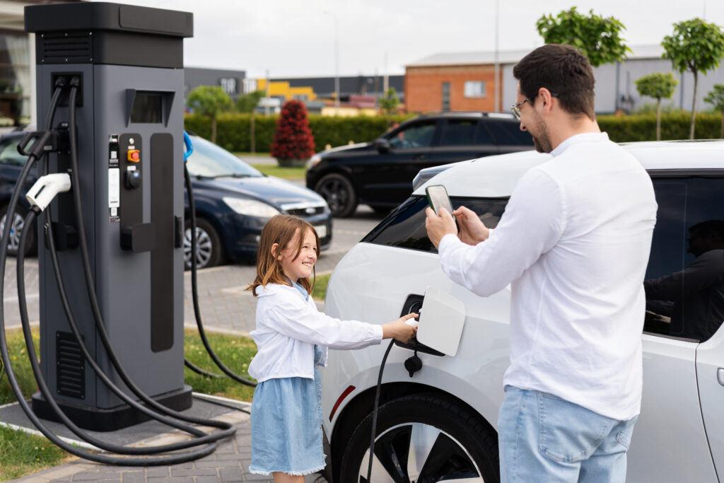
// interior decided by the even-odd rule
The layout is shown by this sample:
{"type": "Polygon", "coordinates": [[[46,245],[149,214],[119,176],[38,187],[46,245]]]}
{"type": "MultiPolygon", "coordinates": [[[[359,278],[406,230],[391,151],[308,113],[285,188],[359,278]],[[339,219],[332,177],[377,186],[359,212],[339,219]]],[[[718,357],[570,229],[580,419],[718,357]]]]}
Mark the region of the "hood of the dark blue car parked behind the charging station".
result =
{"type": "Polygon", "coordinates": [[[287,203],[324,204],[324,198],[293,182],[277,177],[222,177],[214,180],[195,180],[194,188],[214,190],[220,196],[239,196],[255,198],[279,208],[287,203]]]}

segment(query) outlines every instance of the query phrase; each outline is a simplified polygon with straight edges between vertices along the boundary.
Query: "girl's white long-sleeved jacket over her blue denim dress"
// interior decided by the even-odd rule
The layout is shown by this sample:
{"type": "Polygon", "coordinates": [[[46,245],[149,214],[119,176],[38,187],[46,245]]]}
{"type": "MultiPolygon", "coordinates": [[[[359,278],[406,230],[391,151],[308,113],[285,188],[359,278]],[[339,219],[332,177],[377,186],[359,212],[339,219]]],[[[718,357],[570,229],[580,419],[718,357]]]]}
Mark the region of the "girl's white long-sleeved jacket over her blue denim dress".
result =
{"type": "Polygon", "coordinates": [[[314,345],[361,349],[382,342],[382,327],[355,320],[334,319],[321,313],[294,287],[269,283],[256,287],[256,330],[251,337],[258,351],[249,364],[249,375],[258,382],[277,377],[314,379],[314,345]]]}

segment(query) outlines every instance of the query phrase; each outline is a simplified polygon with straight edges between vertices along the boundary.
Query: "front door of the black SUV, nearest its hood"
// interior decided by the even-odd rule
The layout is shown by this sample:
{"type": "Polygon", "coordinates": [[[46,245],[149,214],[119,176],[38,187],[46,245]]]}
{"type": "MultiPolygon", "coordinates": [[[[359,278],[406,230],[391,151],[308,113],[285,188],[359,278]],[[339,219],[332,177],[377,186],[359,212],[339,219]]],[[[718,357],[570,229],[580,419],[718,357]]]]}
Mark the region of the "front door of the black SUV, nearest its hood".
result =
{"type": "Polygon", "coordinates": [[[390,150],[370,156],[355,172],[361,177],[360,201],[382,206],[405,201],[419,171],[415,167],[426,162],[436,136],[437,119],[421,119],[387,135],[390,150]]]}

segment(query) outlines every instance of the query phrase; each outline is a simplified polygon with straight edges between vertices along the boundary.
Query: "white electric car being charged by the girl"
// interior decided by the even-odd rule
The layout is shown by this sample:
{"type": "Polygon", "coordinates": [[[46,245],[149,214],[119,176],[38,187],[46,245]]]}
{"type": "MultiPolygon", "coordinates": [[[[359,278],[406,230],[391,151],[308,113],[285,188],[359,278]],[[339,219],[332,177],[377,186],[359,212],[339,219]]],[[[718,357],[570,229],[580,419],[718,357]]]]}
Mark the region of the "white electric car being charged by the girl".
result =
{"type": "MultiPolygon", "coordinates": [[[[623,146],[650,173],[659,205],[646,278],[680,272],[694,261],[687,253],[689,228],[724,220],[724,141],[623,146]]],[[[334,270],[325,311],[342,319],[388,322],[419,310],[429,286],[466,307],[455,356],[418,348],[422,368],[410,373],[405,361],[413,346],[392,348],[382,378],[372,482],[498,481],[496,425],[509,363],[510,287],[481,298],[445,277],[424,228],[424,187],[445,185],[455,208],[468,206],[494,227],[523,172],[548,156],[490,156],[453,165],[432,180],[418,176],[413,196],[334,270]]],[[[724,293],[724,273],[715,279],[710,293],[724,293]]],[[[682,290],[699,289],[685,282],[682,290]]],[[[711,315],[723,313],[722,301],[706,293],[647,301],[644,395],[628,453],[630,482],[717,482],[724,474],[724,330],[722,318],[711,315]]],[[[366,478],[386,347],[387,341],[330,351],[322,408],[331,482],[366,478]]]]}

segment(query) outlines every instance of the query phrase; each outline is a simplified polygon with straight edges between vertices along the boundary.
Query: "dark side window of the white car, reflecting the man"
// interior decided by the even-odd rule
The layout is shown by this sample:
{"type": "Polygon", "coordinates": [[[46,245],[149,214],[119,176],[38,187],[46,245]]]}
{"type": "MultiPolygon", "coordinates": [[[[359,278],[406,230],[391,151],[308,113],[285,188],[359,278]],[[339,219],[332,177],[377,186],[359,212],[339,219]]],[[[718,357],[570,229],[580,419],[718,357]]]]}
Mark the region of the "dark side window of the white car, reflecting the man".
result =
{"type": "Polygon", "coordinates": [[[644,332],[704,342],[724,321],[724,178],[656,179],[644,332]]]}

